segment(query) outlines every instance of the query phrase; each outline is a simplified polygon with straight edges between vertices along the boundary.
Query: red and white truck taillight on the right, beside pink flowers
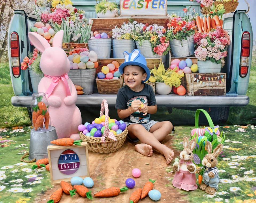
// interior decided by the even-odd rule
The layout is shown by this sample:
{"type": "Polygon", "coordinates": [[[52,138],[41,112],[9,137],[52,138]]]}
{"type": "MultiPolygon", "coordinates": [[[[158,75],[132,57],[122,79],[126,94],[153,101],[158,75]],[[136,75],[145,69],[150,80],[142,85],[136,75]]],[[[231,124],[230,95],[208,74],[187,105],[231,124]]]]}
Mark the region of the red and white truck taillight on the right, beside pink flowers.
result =
{"type": "Polygon", "coordinates": [[[250,33],[245,31],[242,34],[241,61],[239,75],[244,78],[248,73],[250,56],[250,33]]]}

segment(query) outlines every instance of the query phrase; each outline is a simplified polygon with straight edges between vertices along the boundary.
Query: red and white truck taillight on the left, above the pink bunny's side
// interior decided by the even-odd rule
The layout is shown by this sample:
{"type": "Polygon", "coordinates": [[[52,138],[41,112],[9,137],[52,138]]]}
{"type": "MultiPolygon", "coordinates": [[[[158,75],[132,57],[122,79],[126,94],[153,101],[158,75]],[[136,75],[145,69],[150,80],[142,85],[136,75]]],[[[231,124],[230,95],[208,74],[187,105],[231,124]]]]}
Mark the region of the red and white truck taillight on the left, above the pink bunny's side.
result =
{"type": "Polygon", "coordinates": [[[15,78],[21,75],[21,67],[19,64],[19,35],[17,32],[12,32],[10,37],[10,52],[11,52],[11,68],[15,78]]]}

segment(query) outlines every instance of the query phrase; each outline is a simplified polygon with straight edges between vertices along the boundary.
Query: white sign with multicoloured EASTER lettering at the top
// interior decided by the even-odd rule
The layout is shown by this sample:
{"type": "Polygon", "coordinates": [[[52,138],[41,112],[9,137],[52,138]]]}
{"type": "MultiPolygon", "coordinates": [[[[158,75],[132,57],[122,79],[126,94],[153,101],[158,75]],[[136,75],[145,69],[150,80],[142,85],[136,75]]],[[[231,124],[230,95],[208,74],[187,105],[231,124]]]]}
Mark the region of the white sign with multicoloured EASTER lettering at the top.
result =
{"type": "Polygon", "coordinates": [[[166,15],[167,0],[120,0],[120,15],[166,15]]]}

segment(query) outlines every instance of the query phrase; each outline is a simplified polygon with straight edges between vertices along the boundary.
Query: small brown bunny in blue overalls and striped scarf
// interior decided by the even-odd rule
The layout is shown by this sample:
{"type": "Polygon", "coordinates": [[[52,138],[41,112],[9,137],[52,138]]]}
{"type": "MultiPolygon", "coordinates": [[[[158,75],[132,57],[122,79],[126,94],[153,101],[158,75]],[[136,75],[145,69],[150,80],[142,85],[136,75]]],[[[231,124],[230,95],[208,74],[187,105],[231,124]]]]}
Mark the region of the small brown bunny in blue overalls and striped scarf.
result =
{"type": "Polygon", "coordinates": [[[207,155],[202,160],[203,167],[197,169],[197,173],[200,174],[201,170],[204,170],[203,173],[203,180],[204,183],[200,185],[200,189],[204,190],[207,194],[213,195],[218,189],[219,183],[219,172],[218,168],[216,167],[218,164],[217,158],[221,153],[223,144],[219,144],[214,150],[212,151],[212,146],[209,141],[206,143],[206,151],[208,152],[207,155]]]}

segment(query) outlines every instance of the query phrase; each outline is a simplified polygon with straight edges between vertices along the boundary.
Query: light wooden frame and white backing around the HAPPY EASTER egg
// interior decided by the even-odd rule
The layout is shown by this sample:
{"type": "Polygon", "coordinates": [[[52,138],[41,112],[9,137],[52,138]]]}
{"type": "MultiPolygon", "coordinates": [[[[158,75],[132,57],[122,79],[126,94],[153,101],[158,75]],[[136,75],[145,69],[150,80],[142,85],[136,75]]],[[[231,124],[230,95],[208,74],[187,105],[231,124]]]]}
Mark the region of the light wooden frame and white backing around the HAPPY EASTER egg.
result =
{"type": "MultiPolygon", "coordinates": [[[[81,146],[72,145],[68,147],[58,146],[58,145],[48,145],[47,151],[48,151],[48,159],[50,164],[50,178],[51,178],[52,185],[60,184],[62,180],[66,182],[70,182],[71,178],[74,176],[79,176],[81,178],[90,176],[87,142],[82,142],[81,146]],[[74,151],[76,155],[78,155],[79,167],[77,171],[72,174],[63,174],[59,170],[60,163],[58,162],[61,155],[65,157],[67,156],[65,154],[63,155],[62,153],[68,149],[74,151]]],[[[74,164],[75,162],[70,162],[69,164],[71,163],[74,164]]]]}

